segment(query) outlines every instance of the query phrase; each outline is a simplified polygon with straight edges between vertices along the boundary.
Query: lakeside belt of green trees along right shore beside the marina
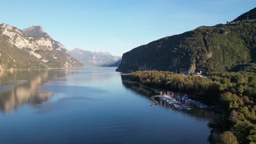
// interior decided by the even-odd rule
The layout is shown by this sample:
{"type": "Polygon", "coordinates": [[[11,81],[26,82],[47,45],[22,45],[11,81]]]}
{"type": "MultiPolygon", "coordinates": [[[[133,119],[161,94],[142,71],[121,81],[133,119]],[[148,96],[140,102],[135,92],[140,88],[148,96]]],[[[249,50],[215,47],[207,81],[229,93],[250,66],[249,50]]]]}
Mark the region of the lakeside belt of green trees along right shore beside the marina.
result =
{"type": "MultiPolygon", "coordinates": [[[[207,73],[207,77],[170,71],[136,71],[131,80],[144,85],[185,93],[200,93],[223,105],[224,114],[208,124],[222,131],[219,143],[256,143],[256,64],[243,71],[207,73]]],[[[237,68],[238,69],[238,68],[237,68]]]]}

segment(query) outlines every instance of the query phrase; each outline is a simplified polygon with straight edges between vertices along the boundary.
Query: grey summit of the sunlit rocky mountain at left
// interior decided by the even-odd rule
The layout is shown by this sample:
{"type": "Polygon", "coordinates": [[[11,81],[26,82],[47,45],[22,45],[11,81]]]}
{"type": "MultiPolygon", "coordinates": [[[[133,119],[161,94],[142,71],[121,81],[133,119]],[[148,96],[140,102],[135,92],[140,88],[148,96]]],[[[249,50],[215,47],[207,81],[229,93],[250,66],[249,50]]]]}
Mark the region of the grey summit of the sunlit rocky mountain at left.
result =
{"type": "Polygon", "coordinates": [[[41,26],[31,26],[22,30],[26,35],[32,37],[50,37],[41,26]]]}

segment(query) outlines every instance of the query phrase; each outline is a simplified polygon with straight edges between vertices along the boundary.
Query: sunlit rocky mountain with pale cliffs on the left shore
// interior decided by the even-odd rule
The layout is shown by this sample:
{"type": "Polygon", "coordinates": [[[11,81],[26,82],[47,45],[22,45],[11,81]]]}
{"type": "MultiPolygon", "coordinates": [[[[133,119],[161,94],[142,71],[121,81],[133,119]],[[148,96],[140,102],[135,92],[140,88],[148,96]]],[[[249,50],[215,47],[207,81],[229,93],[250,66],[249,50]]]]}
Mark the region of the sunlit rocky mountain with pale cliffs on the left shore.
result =
{"type": "Polygon", "coordinates": [[[40,26],[0,25],[0,70],[83,67],[40,26]]]}

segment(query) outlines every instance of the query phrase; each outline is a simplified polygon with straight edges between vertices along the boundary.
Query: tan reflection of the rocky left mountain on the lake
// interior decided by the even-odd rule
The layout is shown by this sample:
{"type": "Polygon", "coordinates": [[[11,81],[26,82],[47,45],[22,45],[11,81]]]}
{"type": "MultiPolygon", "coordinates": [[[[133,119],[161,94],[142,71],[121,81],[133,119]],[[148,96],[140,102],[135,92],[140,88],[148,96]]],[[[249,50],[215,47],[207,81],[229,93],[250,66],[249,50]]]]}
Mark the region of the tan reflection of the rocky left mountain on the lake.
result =
{"type": "Polygon", "coordinates": [[[70,73],[53,73],[51,70],[0,71],[0,110],[8,113],[24,104],[34,106],[47,101],[53,94],[44,92],[39,87],[49,79],[57,79],[70,73]]]}

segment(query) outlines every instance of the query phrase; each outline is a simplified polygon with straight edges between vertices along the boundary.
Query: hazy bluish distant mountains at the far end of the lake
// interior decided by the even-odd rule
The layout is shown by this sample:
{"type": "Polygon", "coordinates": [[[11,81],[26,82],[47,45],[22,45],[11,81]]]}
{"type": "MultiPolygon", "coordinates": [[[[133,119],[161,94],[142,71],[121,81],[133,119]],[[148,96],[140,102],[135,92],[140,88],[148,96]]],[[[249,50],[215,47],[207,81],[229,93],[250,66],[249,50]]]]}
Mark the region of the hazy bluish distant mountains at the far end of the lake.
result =
{"type": "Polygon", "coordinates": [[[108,67],[121,59],[121,57],[112,56],[109,52],[91,52],[78,48],[69,51],[69,53],[85,66],[108,67]]]}

